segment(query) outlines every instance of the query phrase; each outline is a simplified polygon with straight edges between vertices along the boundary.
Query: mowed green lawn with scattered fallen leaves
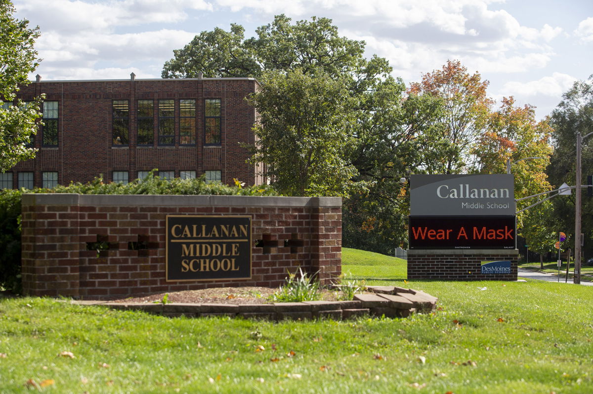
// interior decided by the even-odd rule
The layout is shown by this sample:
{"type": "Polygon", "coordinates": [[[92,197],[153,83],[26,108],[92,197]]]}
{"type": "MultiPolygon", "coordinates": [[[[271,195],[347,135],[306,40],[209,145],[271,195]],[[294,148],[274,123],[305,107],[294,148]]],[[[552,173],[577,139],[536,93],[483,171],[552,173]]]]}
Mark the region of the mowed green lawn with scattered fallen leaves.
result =
{"type": "Polygon", "coordinates": [[[439,309],[275,323],[2,299],[0,392],[35,392],[30,379],[47,393],[593,392],[592,288],[404,283],[402,260],[343,254],[345,271],[431,293],[439,309]]]}

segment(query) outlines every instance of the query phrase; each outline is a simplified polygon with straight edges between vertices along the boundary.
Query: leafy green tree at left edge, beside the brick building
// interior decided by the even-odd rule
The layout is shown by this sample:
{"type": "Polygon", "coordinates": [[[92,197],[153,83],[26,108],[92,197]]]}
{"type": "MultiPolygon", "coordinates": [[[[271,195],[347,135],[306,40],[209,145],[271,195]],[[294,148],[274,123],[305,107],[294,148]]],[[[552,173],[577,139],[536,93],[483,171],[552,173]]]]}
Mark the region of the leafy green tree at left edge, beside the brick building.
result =
{"type": "MultiPolygon", "coordinates": [[[[0,98],[5,104],[15,99],[19,85],[29,83],[28,73],[39,64],[33,48],[39,27],[28,28],[27,20],[12,17],[14,12],[9,0],[0,0],[0,98]]],[[[28,143],[37,131],[40,100],[27,106],[19,100],[17,106],[0,108],[0,172],[35,156],[28,143]]]]}

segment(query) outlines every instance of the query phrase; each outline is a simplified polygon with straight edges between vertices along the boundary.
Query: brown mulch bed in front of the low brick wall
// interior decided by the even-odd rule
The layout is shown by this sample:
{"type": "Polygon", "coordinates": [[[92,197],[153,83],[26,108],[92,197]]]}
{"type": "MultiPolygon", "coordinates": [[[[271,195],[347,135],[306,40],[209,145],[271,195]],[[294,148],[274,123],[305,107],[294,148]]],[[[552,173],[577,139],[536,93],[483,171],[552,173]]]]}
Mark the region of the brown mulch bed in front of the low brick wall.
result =
{"type": "MultiPolygon", "coordinates": [[[[182,292],[155,293],[141,297],[111,299],[111,302],[155,302],[161,301],[165,294],[167,302],[176,303],[273,303],[270,296],[278,288],[244,287],[244,288],[211,288],[202,290],[185,290],[182,292]]],[[[331,290],[321,290],[321,299],[337,301],[337,294],[331,290]]]]}

